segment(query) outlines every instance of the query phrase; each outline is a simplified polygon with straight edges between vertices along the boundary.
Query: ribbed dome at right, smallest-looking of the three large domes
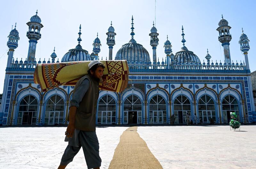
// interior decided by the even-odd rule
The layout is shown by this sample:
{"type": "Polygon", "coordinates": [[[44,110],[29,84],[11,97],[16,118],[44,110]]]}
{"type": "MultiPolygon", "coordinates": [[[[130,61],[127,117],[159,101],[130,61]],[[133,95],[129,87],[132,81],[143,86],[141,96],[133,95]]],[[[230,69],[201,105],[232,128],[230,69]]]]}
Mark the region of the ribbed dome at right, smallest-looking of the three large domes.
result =
{"type": "Polygon", "coordinates": [[[189,51],[188,48],[182,47],[180,52],[177,52],[174,55],[174,63],[199,63],[200,59],[192,51],[189,51]]]}

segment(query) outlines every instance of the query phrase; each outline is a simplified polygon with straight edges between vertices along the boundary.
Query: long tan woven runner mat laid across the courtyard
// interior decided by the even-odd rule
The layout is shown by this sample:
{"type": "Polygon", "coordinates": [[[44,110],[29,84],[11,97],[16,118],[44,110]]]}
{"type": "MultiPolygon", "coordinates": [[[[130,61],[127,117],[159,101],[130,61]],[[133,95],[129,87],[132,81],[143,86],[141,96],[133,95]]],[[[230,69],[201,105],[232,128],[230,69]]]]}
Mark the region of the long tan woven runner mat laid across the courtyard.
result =
{"type": "Polygon", "coordinates": [[[137,133],[138,127],[130,127],[120,136],[109,169],[163,169],[137,133]]]}

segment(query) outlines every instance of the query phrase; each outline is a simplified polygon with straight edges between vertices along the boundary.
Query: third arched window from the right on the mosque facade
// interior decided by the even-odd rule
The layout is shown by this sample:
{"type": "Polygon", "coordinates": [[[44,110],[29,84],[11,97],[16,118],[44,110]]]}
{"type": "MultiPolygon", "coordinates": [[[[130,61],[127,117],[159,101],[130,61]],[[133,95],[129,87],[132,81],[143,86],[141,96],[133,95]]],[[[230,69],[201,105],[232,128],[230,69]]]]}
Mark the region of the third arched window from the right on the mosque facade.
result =
{"type": "Polygon", "coordinates": [[[175,123],[186,123],[186,114],[191,115],[191,106],[189,99],[184,96],[178,96],[173,102],[175,123]]]}

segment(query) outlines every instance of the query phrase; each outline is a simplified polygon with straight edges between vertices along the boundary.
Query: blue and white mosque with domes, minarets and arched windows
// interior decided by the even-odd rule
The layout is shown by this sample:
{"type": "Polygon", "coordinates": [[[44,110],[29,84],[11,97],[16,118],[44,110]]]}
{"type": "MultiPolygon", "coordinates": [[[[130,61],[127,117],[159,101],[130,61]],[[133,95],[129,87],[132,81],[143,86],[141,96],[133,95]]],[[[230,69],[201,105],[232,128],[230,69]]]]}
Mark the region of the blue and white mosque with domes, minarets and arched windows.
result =
{"type": "MultiPolygon", "coordinates": [[[[8,61],[6,66],[0,123],[4,126],[19,125],[56,125],[66,124],[69,101],[74,86],[59,86],[47,92],[41,92],[40,85],[34,84],[33,76],[36,64],[54,63],[57,57],[55,50],[50,59],[36,61],[36,44],[41,38],[44,27],[41,18],[32,16],[27,23],[29,39],[28,57],[23,61],[16,58],[14,50],[20,39],[16,29],[11,30],[7,46],[8,61]],[[47,61],[48,60],[48,61],[47,61]]],[[[196,121],[204,124],[227,123],[230,112],[236,112],[237,120],[242,123],[256,121],[253,102],[251,72],[248,61],[249,41],[242,30],[238,43],[244,54],[244,62],[234,63],[230,56],[229,42],[232,39],[231,27],[222,17],[217,31],[222,44],[225,60],[214,63],[207,50],[201,62],[196,54],[185,46],[182,26],[181,50],[172,53],[172,45],[164,42],[166,57],[159,61],[156,48],[159,44],[157,29],[153,24],[150,30],[150,45],[153,49],[153,62],[150,61],[146,48],[134,39],[132,17],[131,40],[116,53],[115,60],[127,60],[129,66],[129,83],[121,93],[100,91],[96,123],[97,124],[170,124],[174,115],[174,124],[185,122],[186,114],[194,114],[196,121]]],[[[93,52],[82,48],[81,25],[79,27],[78,45],[62,57],[61,62],[100,60],[101,41],[93,41],[93,52]]],[[[115,29],[108,28],[108,60],[112,60],[115,45],[115,29]]],[[[216,33],[217,35],[217,33],[216,33]]],[[[238,39],[238,36],[236,37],[238,39]]],[[[101,59],[102,60],[102,59],[101,59]]]]}

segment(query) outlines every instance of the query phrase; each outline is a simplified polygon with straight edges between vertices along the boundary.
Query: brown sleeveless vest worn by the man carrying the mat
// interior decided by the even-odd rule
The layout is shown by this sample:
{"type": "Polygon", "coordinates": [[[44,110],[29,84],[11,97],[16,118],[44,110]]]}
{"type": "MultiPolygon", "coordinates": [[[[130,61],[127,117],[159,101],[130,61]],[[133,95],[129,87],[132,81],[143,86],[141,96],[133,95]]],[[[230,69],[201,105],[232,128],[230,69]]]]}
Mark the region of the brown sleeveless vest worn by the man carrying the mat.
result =
{"type": "Polygon", "coordinates": [[[74,93],[76,92],[76,88],[86,78],[89,80],[90,85],[87,92],[84,94],[84,98],[79,103],[79,108],[76,109],[75,128],[83,131],[95,131],[99,83],[91,75],[85,75],[76,83],[74,93]]]}

